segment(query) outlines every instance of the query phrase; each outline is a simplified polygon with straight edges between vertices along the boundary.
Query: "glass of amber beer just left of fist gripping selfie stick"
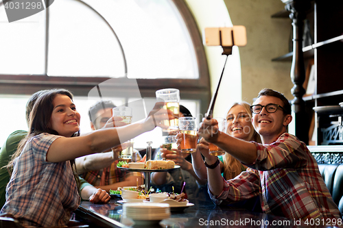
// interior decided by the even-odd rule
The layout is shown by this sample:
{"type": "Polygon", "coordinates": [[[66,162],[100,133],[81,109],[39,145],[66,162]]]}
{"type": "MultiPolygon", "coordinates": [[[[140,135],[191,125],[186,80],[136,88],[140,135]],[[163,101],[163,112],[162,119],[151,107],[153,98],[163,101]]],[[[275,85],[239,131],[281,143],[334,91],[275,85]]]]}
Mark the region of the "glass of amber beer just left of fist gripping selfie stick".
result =
{"type": "Polygon", "coordinates": [[[193,153],[196,152],[198,143],[198,126],[196,117],[181,117],[179,118],[180,134],[182,134],[182,142],[180,144],[181,152],[193,153]]]}

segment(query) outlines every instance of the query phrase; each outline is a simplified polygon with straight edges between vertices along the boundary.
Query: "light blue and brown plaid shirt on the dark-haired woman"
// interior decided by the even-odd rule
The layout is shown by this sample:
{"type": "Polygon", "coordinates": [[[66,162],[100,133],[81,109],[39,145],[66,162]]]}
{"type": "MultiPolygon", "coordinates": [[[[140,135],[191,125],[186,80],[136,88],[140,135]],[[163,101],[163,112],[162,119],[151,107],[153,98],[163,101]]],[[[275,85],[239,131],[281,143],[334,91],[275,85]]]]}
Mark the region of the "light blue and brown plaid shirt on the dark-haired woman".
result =
{"type": "Polygon", "coordinates": [[[1,213],[12,214],[25,226],[53,227],[69,223],[80,197],[71,164],[47,162],[47,151],[57,138],[34,136],[16,158],[1,213]]]}

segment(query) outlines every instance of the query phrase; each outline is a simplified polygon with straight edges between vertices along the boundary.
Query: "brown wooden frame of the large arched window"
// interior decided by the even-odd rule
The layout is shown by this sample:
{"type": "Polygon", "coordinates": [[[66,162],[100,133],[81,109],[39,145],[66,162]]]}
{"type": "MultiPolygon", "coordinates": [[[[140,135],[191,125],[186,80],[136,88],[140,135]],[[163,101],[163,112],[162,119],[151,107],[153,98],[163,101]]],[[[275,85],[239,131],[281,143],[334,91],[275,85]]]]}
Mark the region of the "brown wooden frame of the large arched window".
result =
{"type": "MultiPolygon", "coordinates": [[[[211,99],[209,67],[206,60],[202,37],[191,11],[185,0],[171,0],[180,12],[189,31],[193,48],[196,52],[198,64],[198,79],[129,79],[137,80],[141,97],[155,97],[155,91],[161,88],[178,88],[182,99],[200,100],[200,113],[204,114],[211,99]]],[[[47,72],[47,46],[49,45],[49,8],[45,10],[47,16],[45,34],[45,74],[44,75],[0,75],[1,94],[33,94],[38,90],[49,88],[66,88],[75,96],[87,96],[88,92],[100,83],[112,79],[115,84],[110,84],[108,90],[130,92],[134,88],[123,86],[123,81],[128,79],[112,77],[52,77],[47,72]]]]}

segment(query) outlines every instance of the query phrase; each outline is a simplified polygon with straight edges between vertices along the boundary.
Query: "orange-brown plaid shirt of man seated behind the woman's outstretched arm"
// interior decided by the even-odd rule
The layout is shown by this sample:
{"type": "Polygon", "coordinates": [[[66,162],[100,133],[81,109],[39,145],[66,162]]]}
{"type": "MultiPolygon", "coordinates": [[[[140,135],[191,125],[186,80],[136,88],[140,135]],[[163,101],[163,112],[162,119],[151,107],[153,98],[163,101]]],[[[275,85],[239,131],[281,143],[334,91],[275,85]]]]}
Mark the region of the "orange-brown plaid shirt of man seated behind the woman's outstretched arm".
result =
{"type": "MultiPolygon", "coordinates": [[[[137,153],[137,160],[141,160],[141,158],[141,155],[137,153]]],[[[93,170],[82,173],[80,177],[88,181],[88,183],[91,183],[93,186],[108,186],[113,183],[125,181],[126,178],[131,176],[142,177],[142,174],[139,172],[128,172],[117,168],[118,162],[119,161],[116,160],[110,166],[103,168],[102,170],[93,170]]]]}

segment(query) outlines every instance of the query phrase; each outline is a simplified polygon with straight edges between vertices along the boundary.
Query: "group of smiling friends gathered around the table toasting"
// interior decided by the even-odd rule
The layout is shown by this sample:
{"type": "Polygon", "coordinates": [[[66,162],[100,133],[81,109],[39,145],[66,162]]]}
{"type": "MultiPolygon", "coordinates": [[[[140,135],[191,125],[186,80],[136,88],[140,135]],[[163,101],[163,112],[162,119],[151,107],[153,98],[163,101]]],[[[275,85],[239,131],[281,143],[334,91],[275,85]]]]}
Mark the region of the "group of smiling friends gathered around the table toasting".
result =
{"type": "MultiPolygon", "coordinates": [[[[110,189],[142,184],[141,173],[116,167],[116,154],[123,149],[121,142],[167,127],[163,121],[175,116],[163,111],[163,104],[156,103],[147,118],[126,125],[112,116],[115,105],[102,101],[90,108],[93,131],[83,135],[69,90],[33,94],[26,107],[29,130],[14,131],[1,147],[1,216],[16,218],[24,227],[68,225],[81,199],[108,203],[110,189]]],[[[191,113],[181,106],[180,116],[191,113]]],[[[230,105],[225,132],[218,131],[215,118],[202,119],[196,152],[159,149],[158,158],[174,160],[180,168],[153,173],[152,186],[163,191],[174,186],[178,192],[186,182],[189,201],[297,220],[341,219],[313,155],[304,142],[287,133],[291,121],[291,105],[283,94],[263,89],[252,105],[230,105]],[[209,143],[225,155],[210,155],[209,143]]],[[[181,144],[180,134],[176,138],[181,144]]]]}

